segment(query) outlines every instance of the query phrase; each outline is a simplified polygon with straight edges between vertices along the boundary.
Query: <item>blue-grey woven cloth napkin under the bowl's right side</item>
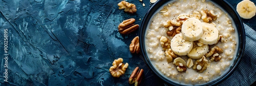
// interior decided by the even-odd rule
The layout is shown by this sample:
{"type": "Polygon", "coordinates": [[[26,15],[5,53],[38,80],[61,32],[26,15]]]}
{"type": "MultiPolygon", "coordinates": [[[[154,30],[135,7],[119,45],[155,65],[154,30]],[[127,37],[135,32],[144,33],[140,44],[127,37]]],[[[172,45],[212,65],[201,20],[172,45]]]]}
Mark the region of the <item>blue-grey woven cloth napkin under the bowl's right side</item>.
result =
{"type": "Polygon", "coordinates": [[[244,56],[232,75],[219,86],[250,86],[256,81],[256,32],[244,24],[246,39],[244,56]]]}

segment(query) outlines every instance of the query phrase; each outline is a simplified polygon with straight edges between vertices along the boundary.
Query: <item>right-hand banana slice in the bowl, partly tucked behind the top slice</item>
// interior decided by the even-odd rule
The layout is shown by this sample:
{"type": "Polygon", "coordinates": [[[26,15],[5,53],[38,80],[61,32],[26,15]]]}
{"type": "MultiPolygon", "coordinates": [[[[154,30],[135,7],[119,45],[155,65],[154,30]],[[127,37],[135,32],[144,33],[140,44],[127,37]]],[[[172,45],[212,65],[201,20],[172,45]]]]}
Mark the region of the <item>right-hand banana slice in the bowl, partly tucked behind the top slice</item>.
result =
{"type": "Polygon", "coordinates": [[[218,40],[218,29],[209,23],[202,23],[202,26],[204,32],[198,41],[205,45],[215,44],[218,40]]]}

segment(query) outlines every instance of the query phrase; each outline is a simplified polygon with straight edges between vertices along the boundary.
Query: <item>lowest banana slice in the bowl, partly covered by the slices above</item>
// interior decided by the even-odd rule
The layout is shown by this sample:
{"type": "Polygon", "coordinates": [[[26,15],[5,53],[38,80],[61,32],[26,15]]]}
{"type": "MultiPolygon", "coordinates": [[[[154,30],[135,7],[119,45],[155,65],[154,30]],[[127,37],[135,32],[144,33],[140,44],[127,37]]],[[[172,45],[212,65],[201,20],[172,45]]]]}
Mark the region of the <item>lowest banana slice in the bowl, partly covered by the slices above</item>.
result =
{"type": "Polygon", "coordinates": [[[197,60],[202,58],[208,51],[209,51],[208,45],[198,46],[197,44],[195,44],[193,46],[193,49],[189,52],[189,54],[187,54],[187,56],[189,58],[197,60]]]}

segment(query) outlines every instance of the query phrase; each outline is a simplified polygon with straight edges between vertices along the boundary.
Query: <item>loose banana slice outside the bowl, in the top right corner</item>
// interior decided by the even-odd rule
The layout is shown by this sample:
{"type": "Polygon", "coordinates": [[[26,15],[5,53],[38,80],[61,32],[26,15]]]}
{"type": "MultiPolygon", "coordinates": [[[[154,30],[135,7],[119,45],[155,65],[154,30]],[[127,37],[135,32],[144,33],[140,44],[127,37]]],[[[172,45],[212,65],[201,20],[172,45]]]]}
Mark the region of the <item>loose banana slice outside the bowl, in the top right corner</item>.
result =
{"type": "Polygon", "coordinates": [[[236,11],[240,17],[244,19],[250,19],[256,14],[256,6],[250,0],[242,0],[237,4],[236,11]]]}

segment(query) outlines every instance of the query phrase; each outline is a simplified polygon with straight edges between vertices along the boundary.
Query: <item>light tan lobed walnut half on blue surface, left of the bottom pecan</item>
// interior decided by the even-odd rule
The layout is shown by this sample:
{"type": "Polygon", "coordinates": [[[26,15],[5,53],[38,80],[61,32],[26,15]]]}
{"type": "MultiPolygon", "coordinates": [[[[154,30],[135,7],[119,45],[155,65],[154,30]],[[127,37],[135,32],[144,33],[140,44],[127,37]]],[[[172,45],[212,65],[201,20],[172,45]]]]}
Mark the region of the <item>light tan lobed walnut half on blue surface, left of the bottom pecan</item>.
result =
{"type": "Polygon", "coordinates": [[[125,70],[128,68],[128,63],[122,63],[123,59],[118,58],[114,60],[112,65],[109,69],[109,72],[113,77],[120,77],[121,75],[125,74],[125,70]]]}

